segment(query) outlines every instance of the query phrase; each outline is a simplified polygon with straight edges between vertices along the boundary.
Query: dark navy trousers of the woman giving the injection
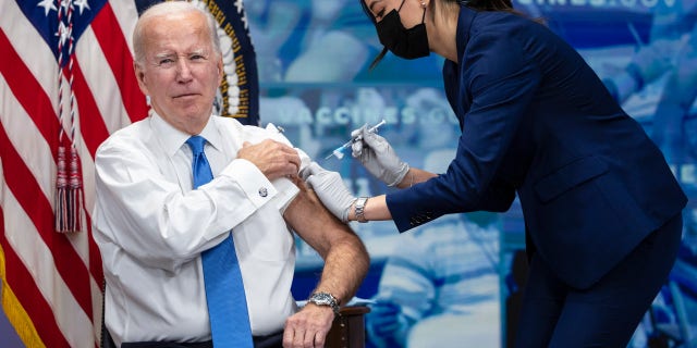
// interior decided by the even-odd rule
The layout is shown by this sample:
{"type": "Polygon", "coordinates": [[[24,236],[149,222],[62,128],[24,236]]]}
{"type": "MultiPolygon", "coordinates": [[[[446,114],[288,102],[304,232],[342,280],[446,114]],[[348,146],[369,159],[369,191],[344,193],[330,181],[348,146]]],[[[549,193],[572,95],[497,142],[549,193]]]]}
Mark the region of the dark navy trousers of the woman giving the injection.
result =
{"type": "Polygon", "coordinates": [[[533,256],[515,347],[626,347],[668,279],[682,226],[678,214],[584,290],[562,283],[533,256]]]}

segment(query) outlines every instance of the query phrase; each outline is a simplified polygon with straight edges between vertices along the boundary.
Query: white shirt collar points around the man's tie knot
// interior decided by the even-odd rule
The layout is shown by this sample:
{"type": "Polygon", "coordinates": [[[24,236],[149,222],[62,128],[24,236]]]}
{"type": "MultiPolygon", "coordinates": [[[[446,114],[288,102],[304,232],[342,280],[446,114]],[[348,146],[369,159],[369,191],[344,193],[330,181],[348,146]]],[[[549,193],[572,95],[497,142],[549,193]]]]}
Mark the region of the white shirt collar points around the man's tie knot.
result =
{"type": "MultiPolygon", "coordinates": [[[[198,135],[206,138],[208,144],[213,148],[220,150],[222,149],[222,139],[220,137],[220,132],[218,132],[218,125],[215,119],[216,116],[211,115],[210,119],[208,119],[206,127],[204,127],[204,130],[198,135]]],[[[150,124],[157,137],[160,138],[167,154],[170,157],[174,156],[174,153],[176,153],[176,151],[179,151],[191,137],[189,134],[174,128],[155,111],[151,112],[150,124]]]]}

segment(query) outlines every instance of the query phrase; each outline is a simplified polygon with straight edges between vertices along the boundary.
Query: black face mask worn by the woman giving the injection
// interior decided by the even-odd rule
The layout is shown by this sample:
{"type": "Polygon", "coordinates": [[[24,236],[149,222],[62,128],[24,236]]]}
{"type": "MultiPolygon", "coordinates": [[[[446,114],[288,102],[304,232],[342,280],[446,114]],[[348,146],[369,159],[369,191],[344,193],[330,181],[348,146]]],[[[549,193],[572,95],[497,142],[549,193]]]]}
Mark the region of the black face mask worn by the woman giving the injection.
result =
{"type": "MultiPolygon", "coordinates": [[[[402,10],[402,4],[400,10],[402,10]]],[[[430,53],[428,48],[428,36],[426,36],[426,9],[424,9],[424,17],[421,24],[417,24],[413,28],[405,28],[400,18],[398,10],[392,10],[382,21],[376,23],[378,29],[378,38],[388,50],[394,55],[404,59],[416,59],[427,57],[430,53]]]]}

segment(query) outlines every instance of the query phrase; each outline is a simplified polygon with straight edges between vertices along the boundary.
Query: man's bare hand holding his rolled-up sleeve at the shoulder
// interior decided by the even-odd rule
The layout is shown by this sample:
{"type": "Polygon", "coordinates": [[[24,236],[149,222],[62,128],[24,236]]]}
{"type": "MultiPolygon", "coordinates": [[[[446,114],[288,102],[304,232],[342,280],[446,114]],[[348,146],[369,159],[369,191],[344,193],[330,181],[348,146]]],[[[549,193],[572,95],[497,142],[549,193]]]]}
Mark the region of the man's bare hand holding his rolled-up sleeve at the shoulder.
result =
{"type": "Polygon", "coordinates": [[[297,175],[301,167],[301,157],[295,149],[271,139],[255,145],[245,141],[237,158],[252,162],[269,181],[297,175]]]}

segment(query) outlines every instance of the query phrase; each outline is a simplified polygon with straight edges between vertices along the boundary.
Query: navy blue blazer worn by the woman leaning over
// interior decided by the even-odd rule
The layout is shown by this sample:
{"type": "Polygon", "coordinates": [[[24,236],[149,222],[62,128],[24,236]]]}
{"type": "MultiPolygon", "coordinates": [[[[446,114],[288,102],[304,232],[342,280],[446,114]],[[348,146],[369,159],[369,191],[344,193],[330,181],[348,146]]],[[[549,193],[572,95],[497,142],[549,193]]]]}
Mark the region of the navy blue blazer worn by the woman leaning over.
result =
{"type": "Polygon", "coordinates": [[[685,207],[657,146],[546,26],[462,7],[456,39],[443,78],[457,153],[447,173],[387,196],[400,232],[506,211],[517,192],[528,250],[586,288],[685,207]]]}

